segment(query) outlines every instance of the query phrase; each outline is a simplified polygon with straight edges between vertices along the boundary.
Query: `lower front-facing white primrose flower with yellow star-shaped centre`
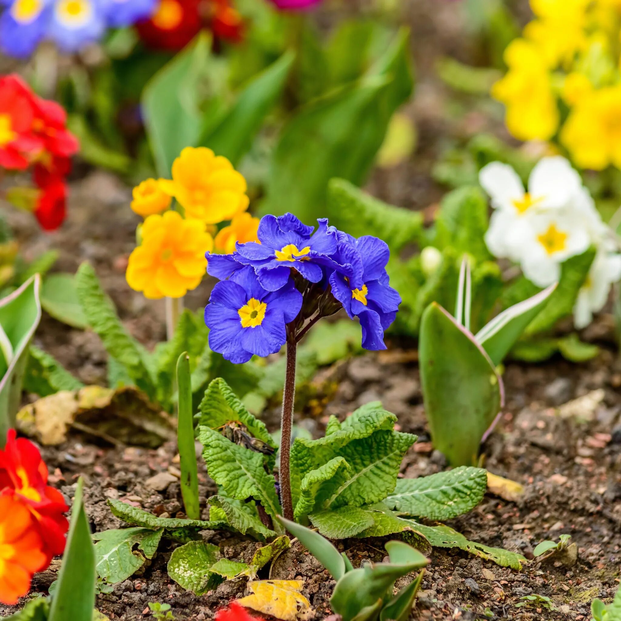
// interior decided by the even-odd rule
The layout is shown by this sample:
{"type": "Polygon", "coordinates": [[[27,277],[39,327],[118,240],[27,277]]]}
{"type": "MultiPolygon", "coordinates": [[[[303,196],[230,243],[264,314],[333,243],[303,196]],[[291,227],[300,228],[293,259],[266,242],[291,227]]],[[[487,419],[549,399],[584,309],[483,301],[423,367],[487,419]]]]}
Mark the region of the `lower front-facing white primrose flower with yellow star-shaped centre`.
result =
{"type": "Polygon", "coordinates": [[[586,227],[569,209],[534,215],[530,231],[522,240],[520,266],[524,276],[538,287],[558,281],[561,263],[591,245],[586,227]]]}

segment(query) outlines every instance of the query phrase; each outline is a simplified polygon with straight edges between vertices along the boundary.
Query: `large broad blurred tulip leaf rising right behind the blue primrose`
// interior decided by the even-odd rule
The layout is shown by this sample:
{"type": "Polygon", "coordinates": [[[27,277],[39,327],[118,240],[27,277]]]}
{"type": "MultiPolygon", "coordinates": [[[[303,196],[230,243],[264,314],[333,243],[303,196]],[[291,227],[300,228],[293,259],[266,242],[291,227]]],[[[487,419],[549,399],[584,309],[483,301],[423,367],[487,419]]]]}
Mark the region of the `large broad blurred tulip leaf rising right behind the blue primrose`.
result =
{"type": "Polygon", "coordinates": [[[363,183],[392,114],[412,92],[409,56],[402,30],[363,78],[315,99],[289,120],[273,152],[261,212],[291,211],[311,220],[325,206],[332,177],[363,183]]]}

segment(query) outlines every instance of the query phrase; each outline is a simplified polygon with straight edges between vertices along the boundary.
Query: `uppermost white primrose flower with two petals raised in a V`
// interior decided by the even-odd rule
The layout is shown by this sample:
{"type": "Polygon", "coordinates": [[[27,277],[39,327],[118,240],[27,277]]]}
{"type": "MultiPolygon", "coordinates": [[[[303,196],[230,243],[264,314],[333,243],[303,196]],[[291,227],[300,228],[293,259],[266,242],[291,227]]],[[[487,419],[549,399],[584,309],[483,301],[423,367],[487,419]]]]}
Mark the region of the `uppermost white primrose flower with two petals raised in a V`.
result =
{"type": "Polygon", "coordinates": [[[566,207],[582,187],[578,173],[563,157],[547,157],[533,168],[528,191],[513,168],[495,161],[479,173],[494,207],[485,242],[492,255],[519,262],[523,241],[531,236],[530,219],[566,207]]]}

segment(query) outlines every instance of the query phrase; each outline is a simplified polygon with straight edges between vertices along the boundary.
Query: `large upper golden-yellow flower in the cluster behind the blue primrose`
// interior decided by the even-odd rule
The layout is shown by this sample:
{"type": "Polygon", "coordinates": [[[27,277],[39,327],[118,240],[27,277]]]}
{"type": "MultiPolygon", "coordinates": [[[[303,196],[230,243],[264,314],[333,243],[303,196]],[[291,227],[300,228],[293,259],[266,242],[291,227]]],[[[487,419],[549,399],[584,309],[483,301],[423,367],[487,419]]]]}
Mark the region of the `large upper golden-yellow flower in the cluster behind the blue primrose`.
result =
{"type": "Polygon", "coordinates": [[[161,186],[174,196],[186,217],[218,224],[248,209],[246,180],[227,158],[206,147],[186,147],[173,163],[173,179],[161,186]]]}

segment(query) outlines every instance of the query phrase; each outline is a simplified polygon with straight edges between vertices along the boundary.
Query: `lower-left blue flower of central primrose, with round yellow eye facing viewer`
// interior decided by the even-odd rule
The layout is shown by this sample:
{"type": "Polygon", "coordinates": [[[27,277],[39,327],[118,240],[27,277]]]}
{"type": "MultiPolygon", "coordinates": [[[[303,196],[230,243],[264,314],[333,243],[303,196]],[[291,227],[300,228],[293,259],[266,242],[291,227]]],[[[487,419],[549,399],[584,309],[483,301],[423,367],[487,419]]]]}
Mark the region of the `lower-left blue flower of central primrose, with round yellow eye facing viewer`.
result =
{"type": "Polygon", "coordinates": [[[209,347],[232,363],[247,362],[253,355],[280,351],[286,341],[285,325],[297,317],[302,294],[291,278],[279,291],[261,287],[248,266],[229,280],[217,283],[205,309],[209,347]]]}

